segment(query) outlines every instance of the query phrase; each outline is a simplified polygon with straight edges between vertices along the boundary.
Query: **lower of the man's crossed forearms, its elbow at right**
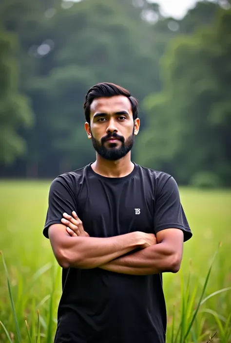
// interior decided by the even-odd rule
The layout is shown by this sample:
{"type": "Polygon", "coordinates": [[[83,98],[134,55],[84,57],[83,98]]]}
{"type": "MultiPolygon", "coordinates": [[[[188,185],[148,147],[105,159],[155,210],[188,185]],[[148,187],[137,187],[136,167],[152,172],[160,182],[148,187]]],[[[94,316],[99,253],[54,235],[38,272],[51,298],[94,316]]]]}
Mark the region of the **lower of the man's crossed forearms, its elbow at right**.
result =
{"type": "Polygon", "coordinates": [[[99,268],[122,274],[151,275],[162,272],[177,272],[182,253],[176,253],[165,242],[141,251],[119,257],[99,268]]]}

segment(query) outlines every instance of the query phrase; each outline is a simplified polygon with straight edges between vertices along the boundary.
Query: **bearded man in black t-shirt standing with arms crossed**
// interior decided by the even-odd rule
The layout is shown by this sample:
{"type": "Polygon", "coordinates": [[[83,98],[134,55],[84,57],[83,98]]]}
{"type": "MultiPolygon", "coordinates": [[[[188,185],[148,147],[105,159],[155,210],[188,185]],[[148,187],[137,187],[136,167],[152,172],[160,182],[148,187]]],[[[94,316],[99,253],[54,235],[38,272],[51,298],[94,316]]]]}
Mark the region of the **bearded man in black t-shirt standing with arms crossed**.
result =
{"type": "Polygon", "coordinates": [[[43,231],[63,268],[55,342],[164,343],[162,273],[179,270],[192,236],[177,184],[131,162],[128,90],[97,84],[84,111],[96,161],[52,182],[43,231]]]}

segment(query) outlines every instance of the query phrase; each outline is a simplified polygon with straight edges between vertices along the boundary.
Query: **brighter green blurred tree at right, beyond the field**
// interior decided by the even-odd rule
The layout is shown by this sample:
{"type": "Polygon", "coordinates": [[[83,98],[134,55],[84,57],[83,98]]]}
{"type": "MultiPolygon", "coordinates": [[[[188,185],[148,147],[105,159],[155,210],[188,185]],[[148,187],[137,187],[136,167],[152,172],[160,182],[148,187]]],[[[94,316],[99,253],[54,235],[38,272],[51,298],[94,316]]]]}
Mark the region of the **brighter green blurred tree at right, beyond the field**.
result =
{"type": "Polygon", "coordinates": [[[231,11],[220,10],[209,29],[173,40],[163,60],[164,90],[145,100],[152,129],[140,135],[140,163],[181,183],[210,173],[231,185],[230,56],[231,11]]]}

